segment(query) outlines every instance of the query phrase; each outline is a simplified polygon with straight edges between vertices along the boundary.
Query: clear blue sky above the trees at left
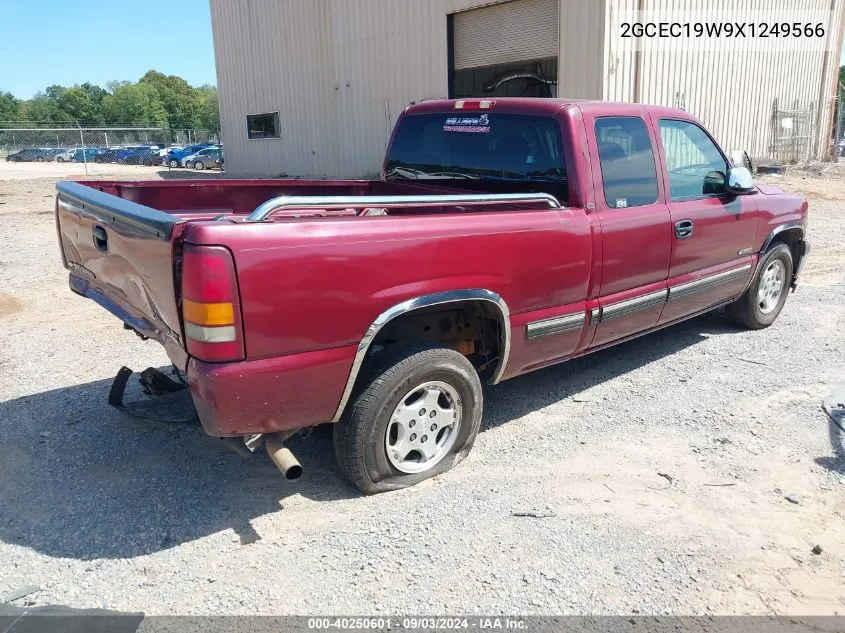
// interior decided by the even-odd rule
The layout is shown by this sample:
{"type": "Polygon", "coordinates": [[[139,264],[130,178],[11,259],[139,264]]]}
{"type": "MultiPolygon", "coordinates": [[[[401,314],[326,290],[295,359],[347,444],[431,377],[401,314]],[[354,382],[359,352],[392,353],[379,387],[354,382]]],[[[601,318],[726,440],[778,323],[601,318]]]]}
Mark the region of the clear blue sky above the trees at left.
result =
{"type": "Polygon", "coordinates": [[[0,92],[137,81],[216,84],[208,0],[0,0],[0,92]]]}

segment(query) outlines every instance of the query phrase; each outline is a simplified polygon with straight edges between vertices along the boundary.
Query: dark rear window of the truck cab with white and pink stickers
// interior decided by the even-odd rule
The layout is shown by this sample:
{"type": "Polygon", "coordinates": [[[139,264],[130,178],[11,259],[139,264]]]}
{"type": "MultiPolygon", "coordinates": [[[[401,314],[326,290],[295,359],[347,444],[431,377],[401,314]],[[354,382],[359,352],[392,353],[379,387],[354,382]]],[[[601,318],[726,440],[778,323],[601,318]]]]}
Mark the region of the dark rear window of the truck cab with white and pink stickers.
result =
{"type": "Polygon", "coordinates": [[[533,183],[534,187],[522,189],[556,195],[566,184],[560,131],[554,119],[478,112],[406,116],[390,147],[385,176],[390,180],[533,183]],[[543,183],[549,186],[536,186],[543,183]]]}

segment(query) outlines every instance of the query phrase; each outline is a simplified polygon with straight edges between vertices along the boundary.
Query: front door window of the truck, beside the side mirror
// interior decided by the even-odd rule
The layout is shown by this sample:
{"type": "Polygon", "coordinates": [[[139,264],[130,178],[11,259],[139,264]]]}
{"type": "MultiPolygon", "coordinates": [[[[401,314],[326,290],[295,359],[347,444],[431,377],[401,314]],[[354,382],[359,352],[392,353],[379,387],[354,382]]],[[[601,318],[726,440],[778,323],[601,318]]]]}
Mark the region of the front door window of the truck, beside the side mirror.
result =
{"type": "Polygon", "coordinates": [[[672,200],[724,192],[728,165],[704,130],[689,121],[661,119],[660,137],[666,154],[672,200]]]}

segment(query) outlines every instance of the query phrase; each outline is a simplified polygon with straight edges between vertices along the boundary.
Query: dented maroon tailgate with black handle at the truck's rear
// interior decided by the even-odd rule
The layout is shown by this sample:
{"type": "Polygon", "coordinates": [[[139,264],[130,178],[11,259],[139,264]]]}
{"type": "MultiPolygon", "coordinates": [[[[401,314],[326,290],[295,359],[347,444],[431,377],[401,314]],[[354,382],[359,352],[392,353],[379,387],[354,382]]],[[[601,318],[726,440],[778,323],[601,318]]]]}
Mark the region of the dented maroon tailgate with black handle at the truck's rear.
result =
{"type": "Polygon", "coordinates": [[[185,358],[175,257],[178,217],[76,182],[56,185],[56,224],[71,289],[185,358]]]}

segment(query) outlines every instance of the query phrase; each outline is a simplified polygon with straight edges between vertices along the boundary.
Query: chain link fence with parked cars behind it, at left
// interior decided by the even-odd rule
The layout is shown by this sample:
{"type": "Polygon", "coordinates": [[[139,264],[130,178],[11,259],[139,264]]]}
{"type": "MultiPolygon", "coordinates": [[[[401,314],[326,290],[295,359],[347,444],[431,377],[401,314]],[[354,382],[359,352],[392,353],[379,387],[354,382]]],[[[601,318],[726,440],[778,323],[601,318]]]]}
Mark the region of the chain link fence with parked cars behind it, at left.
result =
{"type": "Polygon", "coordinates": [[[0,160],[162,164],[170,150],[220,144],[220,132],[149,124],[79,125],[0,121],[0,160]]]}

